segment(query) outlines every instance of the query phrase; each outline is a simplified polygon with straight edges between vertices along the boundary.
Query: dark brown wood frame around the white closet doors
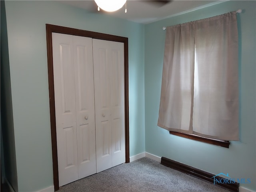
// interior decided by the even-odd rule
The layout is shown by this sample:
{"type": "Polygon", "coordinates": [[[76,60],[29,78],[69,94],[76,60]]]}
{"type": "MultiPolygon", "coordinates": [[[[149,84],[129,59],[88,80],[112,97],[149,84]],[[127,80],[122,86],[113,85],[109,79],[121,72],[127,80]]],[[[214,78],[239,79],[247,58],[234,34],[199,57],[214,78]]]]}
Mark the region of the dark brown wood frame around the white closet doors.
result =
{"type": "Polygon", "coordinates": [[[128,38],[79,30],[74,28],[46,24],[46,43],[47,43],[47,62],[48,62],[48,84],[50,100],[50,125],[52,137],[52,163],[53,163],[53,181],[54,191],[59,190],[58,176],[58,156],[57,156],[57,138],[56,138],[56,119],[55,119],[55,101],[54,101],[54,79],[53,79],[53,59],[52,59],[52,32],[90,37],[94,39],[109,40],[124,43],[124,121],[125,121],[125,162],[130,162],[129,153],[129,90],[128,90],[128,38]]]}

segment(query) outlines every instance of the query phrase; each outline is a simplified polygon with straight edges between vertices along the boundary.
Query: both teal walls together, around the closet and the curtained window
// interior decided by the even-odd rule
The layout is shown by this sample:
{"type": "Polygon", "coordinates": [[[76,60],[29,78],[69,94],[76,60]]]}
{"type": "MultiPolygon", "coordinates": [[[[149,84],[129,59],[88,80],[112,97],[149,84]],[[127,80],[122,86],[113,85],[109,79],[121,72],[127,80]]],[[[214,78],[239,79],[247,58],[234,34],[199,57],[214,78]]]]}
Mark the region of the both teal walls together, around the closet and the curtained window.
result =
{"type": "Polygon", "coordinates": [[[213,174],[223,172],[235,178],[251,178],[251,184],[241,186],[256,190],[255,1],[223,2],[146,25],[54,1],[5,3],[8,34],[5,54],[9,54],[10,63],[8,86],[12,93],[19,191],[37,191],[53,185],[46,23],[129,38],[130,156],[146,151],[213,174]],[[165,39],[162,27],[239,8],[244,10],[238,15],[240,142],[232,142],[227,149],[170,135],[156,126],[165,39]]]}

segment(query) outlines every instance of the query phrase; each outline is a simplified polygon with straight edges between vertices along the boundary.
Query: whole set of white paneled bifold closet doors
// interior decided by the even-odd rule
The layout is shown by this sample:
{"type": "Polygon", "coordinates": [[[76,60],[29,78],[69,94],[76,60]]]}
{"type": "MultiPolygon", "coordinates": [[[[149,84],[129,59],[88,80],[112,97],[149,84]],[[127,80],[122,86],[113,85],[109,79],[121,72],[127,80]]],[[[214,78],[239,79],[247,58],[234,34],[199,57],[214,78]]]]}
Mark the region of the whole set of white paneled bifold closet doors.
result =
{"type": "Polygon", "coordinates": [[[52,33],[52,53],[63,186],[125,162],[124,44],[52,33]]]}

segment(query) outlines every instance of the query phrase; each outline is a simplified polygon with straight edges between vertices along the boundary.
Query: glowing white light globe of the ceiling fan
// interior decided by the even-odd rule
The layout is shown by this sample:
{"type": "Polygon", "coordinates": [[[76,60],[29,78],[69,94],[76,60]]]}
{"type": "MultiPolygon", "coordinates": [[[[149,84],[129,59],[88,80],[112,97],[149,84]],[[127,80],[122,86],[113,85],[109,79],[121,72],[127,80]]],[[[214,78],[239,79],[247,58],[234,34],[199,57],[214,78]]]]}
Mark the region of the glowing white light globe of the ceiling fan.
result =
{"type": "Polygon", "coordinates": [[[124,6],[126,0],[94,0],[103,10],[108,12],[116,11],[124,6]]]}

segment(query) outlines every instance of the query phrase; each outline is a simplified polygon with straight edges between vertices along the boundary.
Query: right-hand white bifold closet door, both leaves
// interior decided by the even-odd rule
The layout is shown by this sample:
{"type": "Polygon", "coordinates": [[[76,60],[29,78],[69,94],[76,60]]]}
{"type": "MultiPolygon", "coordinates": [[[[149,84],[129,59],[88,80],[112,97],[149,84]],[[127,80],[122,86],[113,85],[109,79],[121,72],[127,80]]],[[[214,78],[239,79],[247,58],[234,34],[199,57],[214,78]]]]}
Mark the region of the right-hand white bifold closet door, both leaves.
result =
{"type": "Polygon", "coordinates": [[[97,172],[125,162],[124,44],[93,39],[97,172]]]}

